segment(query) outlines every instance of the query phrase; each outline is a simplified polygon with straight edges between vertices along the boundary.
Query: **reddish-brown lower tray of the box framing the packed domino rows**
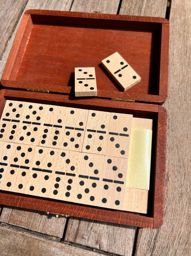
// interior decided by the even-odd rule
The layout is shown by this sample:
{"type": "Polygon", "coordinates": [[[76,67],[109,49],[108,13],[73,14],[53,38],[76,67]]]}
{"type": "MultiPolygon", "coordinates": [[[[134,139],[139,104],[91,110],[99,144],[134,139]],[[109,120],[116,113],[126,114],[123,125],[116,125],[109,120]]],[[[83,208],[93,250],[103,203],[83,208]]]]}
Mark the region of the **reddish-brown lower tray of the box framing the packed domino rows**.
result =
{"type": "Polygon", "coordinates": [[[124,225],[156,228],[163,223],[164,187],[166,161],[166,110],[158,105],[111,101],[107,99],[78,99],[71,95],[26,92],[11,89],[0,91],[0,114],[7,99],[17,101],[42,102],[60,106],[81,107],[102,111],[132,113],[136,117],[153,119],[153,149],[151,164],[151,188],[149,191],[148,214],[115,211],[86,205],[42,199],[34,196],[0,192],[0,204],[29,208],[40,211],[66,214],[93,220],[101,220],[124,225]]]}

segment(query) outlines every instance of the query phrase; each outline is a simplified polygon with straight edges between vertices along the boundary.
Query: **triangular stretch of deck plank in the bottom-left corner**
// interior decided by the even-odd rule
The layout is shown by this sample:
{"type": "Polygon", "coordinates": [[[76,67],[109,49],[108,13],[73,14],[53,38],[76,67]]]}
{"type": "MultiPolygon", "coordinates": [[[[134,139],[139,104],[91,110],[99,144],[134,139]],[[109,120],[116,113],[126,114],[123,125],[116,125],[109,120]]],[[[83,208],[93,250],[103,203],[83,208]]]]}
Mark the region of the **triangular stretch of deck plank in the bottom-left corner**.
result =
{"type": "Polygon", "coordinates": [[[17,228],[0,226],[0,255],[3,256],[98,256],[100,253],[84,250],[51,239],[37,237],[17,228]]]}

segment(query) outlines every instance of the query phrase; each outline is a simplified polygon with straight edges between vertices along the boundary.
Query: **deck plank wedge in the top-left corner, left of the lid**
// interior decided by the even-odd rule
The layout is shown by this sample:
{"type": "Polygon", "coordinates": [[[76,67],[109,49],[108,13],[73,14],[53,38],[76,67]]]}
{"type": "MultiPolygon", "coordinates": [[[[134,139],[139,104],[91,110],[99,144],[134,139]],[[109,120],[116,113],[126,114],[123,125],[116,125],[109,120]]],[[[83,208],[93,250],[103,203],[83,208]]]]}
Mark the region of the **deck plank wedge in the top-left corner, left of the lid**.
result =
{"type": "Polygon", "coordinates": [[[15,26],[25,7],[26,0],[1,1],[0,7],[0,60],[4,54],[7,42],[9,41],[15,26]],[[7,22],[5,22],[5,20],[7,22]]]}

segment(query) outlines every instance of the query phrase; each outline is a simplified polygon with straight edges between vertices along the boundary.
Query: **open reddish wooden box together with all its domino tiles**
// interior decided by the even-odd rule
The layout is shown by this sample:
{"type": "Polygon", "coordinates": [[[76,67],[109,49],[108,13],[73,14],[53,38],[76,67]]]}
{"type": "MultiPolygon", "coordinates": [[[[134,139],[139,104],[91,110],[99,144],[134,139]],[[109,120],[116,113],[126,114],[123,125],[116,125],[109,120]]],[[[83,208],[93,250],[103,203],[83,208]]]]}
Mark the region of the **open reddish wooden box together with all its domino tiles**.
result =
{"type": "Polygon", "coordinates": [[[0,81],[0,204],[161,226],[168,50],[164,18],[26,11],[0,81]]]}

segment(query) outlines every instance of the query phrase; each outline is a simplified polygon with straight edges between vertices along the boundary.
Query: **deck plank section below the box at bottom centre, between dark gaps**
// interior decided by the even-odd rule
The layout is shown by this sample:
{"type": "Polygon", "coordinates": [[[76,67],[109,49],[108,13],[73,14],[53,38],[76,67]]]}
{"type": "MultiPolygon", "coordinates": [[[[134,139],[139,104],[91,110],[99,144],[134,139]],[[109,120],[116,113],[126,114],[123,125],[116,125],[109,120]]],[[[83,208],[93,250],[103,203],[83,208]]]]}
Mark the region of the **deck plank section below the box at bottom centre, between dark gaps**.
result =
{"type": "Polygon", "coordinates": [[[131,256],[135,227],[70,218],[65,241],[117,255],[131,256]]]}

